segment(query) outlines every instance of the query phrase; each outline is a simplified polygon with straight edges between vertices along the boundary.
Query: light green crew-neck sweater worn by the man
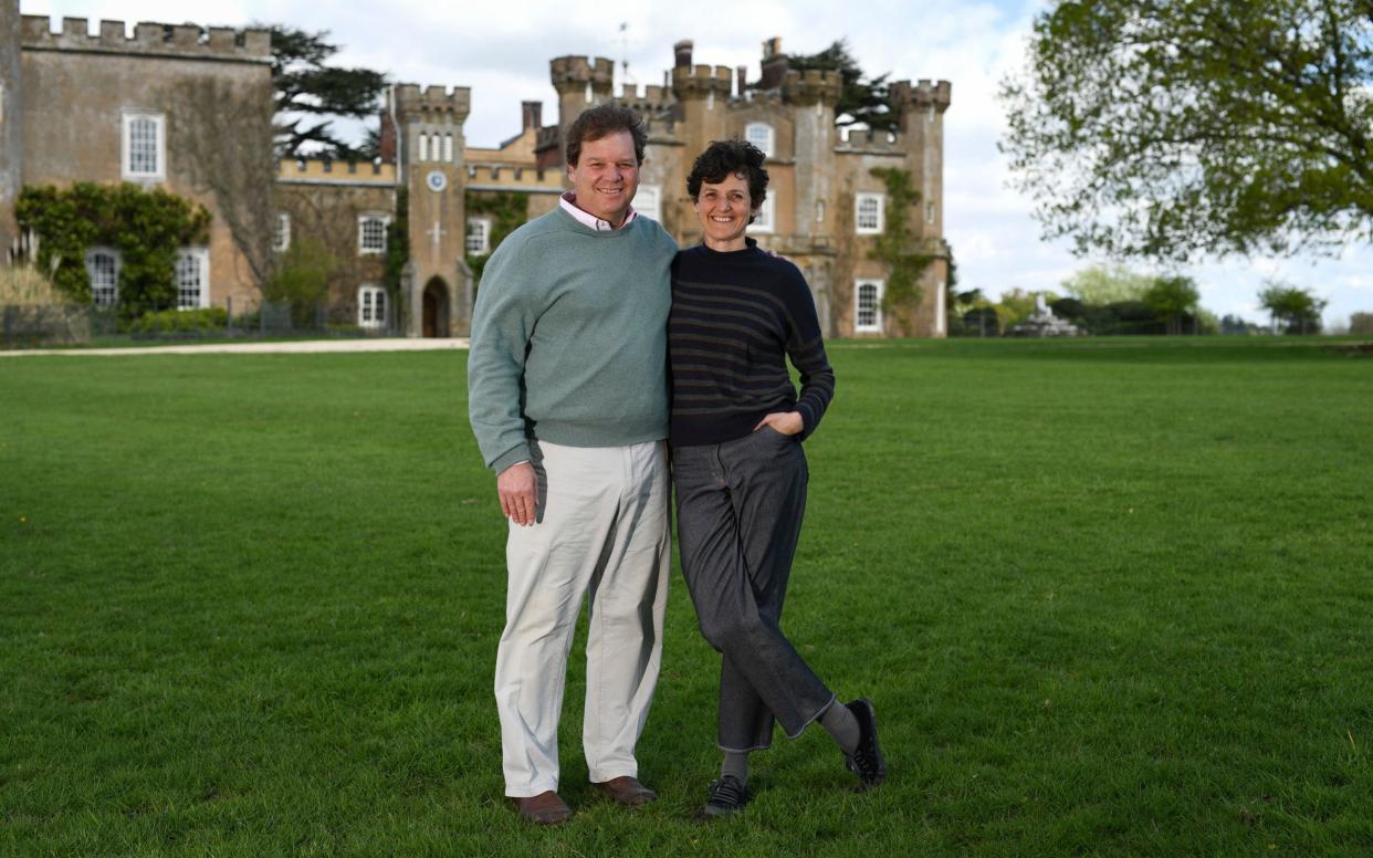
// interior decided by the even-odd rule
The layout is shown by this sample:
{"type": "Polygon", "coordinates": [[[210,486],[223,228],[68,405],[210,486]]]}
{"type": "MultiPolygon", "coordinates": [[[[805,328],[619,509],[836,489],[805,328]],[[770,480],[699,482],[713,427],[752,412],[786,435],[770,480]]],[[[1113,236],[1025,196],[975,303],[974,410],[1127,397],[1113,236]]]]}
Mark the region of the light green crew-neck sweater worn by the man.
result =
{"type": "Polygon", "coordinates": [[[512,232],[472,310],[468,416],[497,474],[530,439],[623,446],[667,437],[669,266],[645,217],[597,232],[562,209],[512,232]]]}

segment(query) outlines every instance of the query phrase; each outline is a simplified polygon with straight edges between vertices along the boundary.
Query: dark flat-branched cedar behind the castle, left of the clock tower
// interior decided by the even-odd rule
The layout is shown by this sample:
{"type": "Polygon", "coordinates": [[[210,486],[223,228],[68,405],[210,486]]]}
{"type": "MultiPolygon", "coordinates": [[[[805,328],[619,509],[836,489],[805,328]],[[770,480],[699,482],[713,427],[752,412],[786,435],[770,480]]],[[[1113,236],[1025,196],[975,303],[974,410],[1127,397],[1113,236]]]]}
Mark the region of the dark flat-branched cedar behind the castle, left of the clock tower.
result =
{"type": "Polygon", "coordinates": [[[368,135],[362,146],[353,146],[335,135],[334,119],[373,118],[386,76],[371,69],[324,65],[339,51],[338,45],[325,41],[327,30],[308,33],[281,25],[269,29],[279,154],[283,158],[321,152],[339,159],[376,156],[375,135],[368,135]]]}

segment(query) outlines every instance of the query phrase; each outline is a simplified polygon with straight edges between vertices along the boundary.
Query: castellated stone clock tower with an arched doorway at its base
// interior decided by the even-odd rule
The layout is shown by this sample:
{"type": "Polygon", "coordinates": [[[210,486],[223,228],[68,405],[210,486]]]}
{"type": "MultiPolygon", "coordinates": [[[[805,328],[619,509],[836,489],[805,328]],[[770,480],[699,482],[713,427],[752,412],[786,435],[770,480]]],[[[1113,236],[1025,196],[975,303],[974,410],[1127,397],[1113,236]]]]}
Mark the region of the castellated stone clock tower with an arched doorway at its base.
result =
{"type": "Polygon", "coordinates": [[[394,99],[389,107],[398,126],[400,183],[409,196],[406,334],[457,336],[470,328],[472,306],[472,277],[463,261],[468,89],[402,84],[387,97],[394,99]]]}

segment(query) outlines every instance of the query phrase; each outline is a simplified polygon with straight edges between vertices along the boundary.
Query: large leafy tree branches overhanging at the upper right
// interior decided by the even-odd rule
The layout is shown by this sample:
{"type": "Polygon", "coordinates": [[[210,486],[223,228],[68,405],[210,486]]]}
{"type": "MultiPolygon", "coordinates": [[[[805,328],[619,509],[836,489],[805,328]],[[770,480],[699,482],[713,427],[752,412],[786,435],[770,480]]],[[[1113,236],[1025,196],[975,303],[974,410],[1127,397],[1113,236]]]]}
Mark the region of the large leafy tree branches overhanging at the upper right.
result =
{"type": "Polygon", "coordinates": [[[1184,261],[1373,227],[1369,0],[1060,1],[1002,82],[1046,236],[1184,261]]]}

